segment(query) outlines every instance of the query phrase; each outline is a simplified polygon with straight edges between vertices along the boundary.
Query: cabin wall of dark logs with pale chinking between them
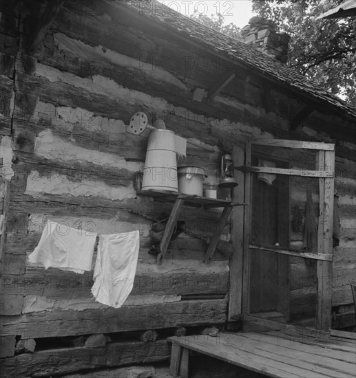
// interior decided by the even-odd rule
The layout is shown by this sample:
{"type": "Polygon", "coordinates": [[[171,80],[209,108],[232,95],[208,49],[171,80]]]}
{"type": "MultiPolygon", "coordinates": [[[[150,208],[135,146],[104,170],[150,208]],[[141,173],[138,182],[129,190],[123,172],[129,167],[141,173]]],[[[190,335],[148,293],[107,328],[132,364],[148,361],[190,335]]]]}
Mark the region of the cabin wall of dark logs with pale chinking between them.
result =
{"type": "MultiPolygon", "coordinates": [[[[1,76],[1,96],[7,101],[1,102],[2,144],[9,145],[12,137],[12,151],[7,151],[12,153],[14,170],[13,177],[8,177],[10,201],[3,206],[6,237],[1,235],[1,333],[10,337],[10,343],[14,335],[40,340],[226,321],[226,254],[216,253],[213,262],[205,265],[205,244],[186,234],[169,245],[161,267],[148,253],[151,224],[167,217],[171,204],[137,195],[136,173],[143,167],[148,137],[148,131],[140,136],[126,133],[137,111],[147,113],[150,122],[163,118],[167,129],[202,142],[205,149],[188,146],[184,165],[206,168],[211,183],[218,180],[219,151],[241,144],[241,135],[337,142],[342,238],[333,250],[333,310],[337,325],[348,325],[356,227],[356,145],[349,120],[315,109],[292,130],[292,115],[305,106],[302,97],[282,85],[271,85],[262,76],[247,75],[248,69],[227,65],[203,44],[182,40],[178,32],[163,33],[162,26],[125,3],[65,2],[41,43],[29,51],[34,25],[48,3],[18,5],[17,13],[8,10],[5,18],[16,25],[13,33],[0,34],[2,41],[12,41],[0,46],[1,62],[6,61],[7,67],[7,74],[1,76]],[[231,71],[236,72],[235,78],[212,102],[207,102],[207,94],[202,101],[192,100],[195,89],[208,93],[231,71]],[[140,231],[129,305],[111,309],[94,302],[92,271],[78,275],[27,262],[48,219],[98,234],[140,231]]],[[[1,25],[3,20],[4,16],[1,25]]],[[[280,157],[273,148],[269,154],[280,157]]],[[[294,151],[285,151],[284,158],[297,167],[314,162],[313,156],[294,151]]],[[[303,183],[292,182],[291,209],[305,208],[304,189],[303,183]]],[[[6,190],[1,193],[5,197],[6,190]]],[[[187,207],[182,220],[190,234],[210,236],[218,216],[218,211],[187,207]]],[[[291,227],[295,245],[300,245],[301,227],[299,223],[291,227]]],[[[229,237],[229,225],[224,234],[229,237]]],[[[314,282],[297,258],[291,263],[292,307],[295,313],[307,312],[313,306],[314,282]]],[[[135,345],[132,351],[138,351],[135,345]]],[[[90,366],[157,361],[169,355],[165,344],[157,344],[155,350],[147,347],[146,351],[142,344],[140,348],[136,359],[123,357],[113,363],[105,357],[90,366]]],[[[81,367],[90,361],[90,352],[85,353],[81,367]]],[[[43,371],[54,373],[53,366],[47,368],[43,371]]],[[[72,371],[66,368],[59,363],[59,372],[72,371]]]]}

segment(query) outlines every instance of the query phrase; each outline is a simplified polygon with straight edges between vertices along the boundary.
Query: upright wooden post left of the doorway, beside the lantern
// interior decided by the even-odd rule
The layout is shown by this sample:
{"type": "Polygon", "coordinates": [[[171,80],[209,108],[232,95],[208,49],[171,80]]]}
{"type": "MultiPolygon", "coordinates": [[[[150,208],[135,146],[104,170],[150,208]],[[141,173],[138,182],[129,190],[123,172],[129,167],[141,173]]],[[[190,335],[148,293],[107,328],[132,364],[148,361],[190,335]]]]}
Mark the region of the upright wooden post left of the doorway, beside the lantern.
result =
{"type": "MultiPolygon", "coordinates": [[[[244,150],[233,148],[233,166],[244,165],[244,150]]],[[[238,186],[233,189],[233,201],[244,199],[244,173],[234,170],[234,178],[238,186]]],[[[229,276],[229,312],[228,320],[238,320],[242,314],[242,262],[244,253],[244,207],[235,206],[231,213],[231,239],[235,254],[230,258],[229,276]]]]}

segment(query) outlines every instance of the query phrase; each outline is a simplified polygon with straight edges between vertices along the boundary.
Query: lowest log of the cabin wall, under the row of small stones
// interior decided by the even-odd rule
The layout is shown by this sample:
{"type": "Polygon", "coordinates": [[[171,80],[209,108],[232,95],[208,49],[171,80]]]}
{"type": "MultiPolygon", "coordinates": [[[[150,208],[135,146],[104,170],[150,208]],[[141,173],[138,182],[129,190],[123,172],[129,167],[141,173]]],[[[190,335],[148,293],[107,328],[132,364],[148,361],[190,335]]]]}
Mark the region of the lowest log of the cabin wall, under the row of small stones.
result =
{"type": "Polygon", "coordinates": [[[113,342],[99,348],[52,348],[0,359],[3,377],[50,377],[81,370],[168,360],[171,346],[156,342],[113,342]]]}

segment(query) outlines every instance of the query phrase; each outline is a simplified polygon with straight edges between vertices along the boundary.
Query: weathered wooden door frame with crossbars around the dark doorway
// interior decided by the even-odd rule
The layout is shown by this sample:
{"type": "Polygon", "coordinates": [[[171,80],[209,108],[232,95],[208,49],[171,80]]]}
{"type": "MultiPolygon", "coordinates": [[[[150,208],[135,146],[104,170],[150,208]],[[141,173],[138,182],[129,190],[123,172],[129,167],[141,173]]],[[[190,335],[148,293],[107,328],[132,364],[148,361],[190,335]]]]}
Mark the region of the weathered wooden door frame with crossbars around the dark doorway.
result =
{"type": "MultiPolygon", "coordinates": [[[[242,201],[247,206],[235,207],[231,214],[231,237],[235,254],[230,262],[228,320],[242,320],[275,325],[271,320],[254,318],[249,313],[250,281],[250,212],[251,175],[271,173],[275,175],[316,177],[319,179],[320,214],[317,234],[317,254],[291,252],[289,250],[267,250],[278,254],[310,258],[317,262],[317,314],[315,329],[329,332],[331,329],[331,289],[333,251],[333,202],[335,185],[335,144],[247,138],[244,146],[233,147],[233,164],[238,187],[233,190],[233,201],[242,201]],[[273,146],[283,148],[311,149],[317,151],[315,170],[265,168],[251,166],[251,146],[273,146]]],[[[290,329],[293,326],[286,325],[290,329]]],[[[299,327],[296,327],[299,328],[299,327]]]]}

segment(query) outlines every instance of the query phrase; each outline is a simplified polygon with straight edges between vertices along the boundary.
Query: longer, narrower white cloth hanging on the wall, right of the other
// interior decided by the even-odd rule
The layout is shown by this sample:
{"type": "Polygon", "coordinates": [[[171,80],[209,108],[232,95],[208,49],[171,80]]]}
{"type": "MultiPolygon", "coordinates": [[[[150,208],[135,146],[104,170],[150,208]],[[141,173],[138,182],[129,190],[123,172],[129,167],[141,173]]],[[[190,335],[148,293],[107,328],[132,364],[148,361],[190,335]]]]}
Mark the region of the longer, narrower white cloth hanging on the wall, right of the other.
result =
{"type": "Polygon", "coordinates": [[[100,235],[92,294],[97,302],[121,307],[134,287],[140,233],[100,235]]]}

